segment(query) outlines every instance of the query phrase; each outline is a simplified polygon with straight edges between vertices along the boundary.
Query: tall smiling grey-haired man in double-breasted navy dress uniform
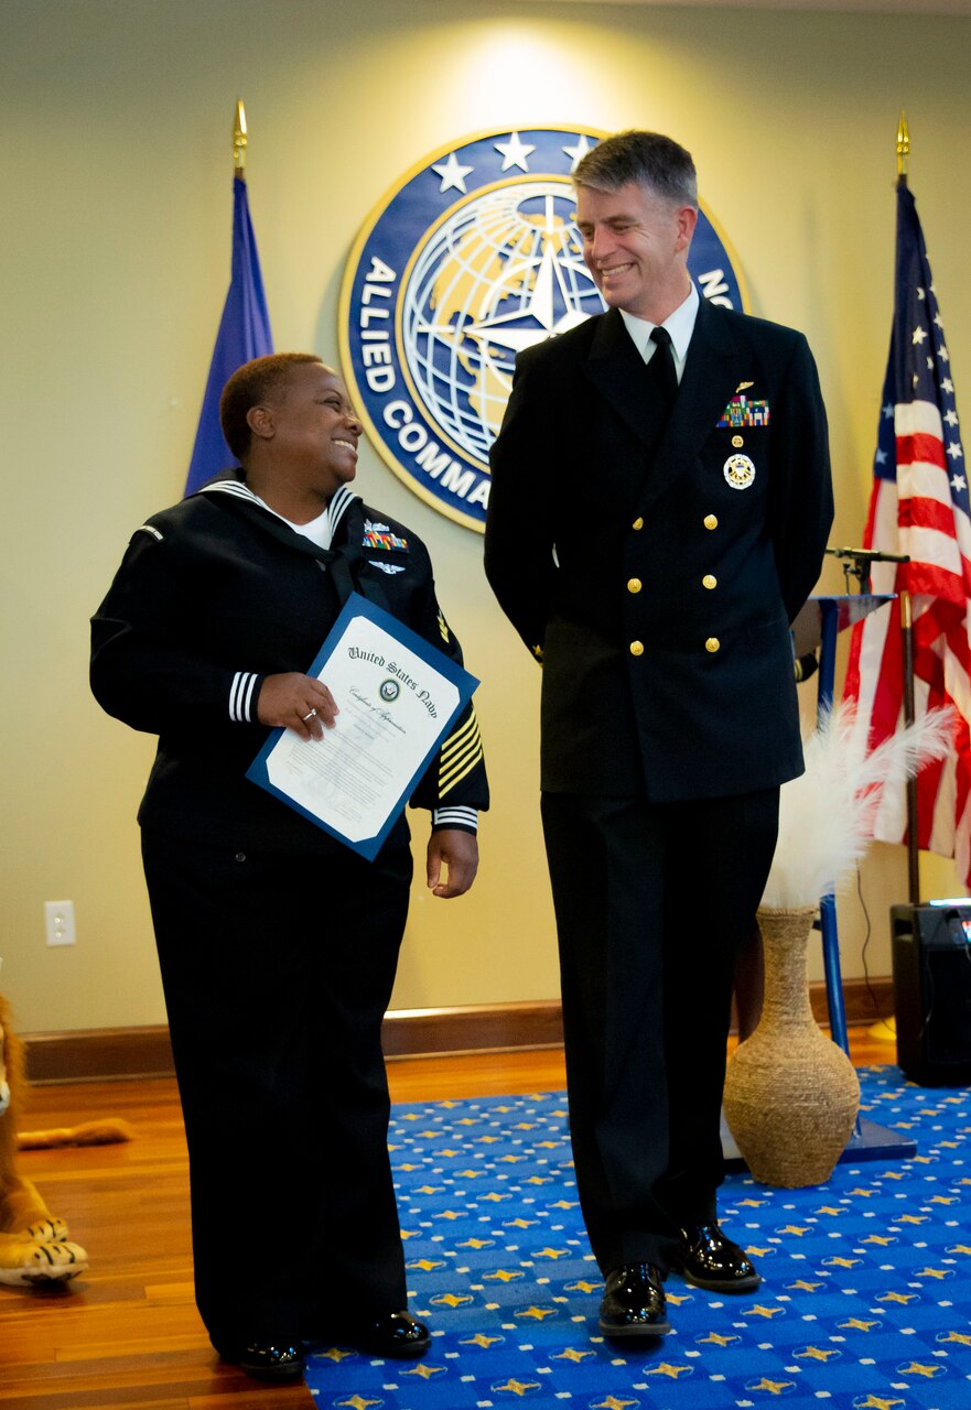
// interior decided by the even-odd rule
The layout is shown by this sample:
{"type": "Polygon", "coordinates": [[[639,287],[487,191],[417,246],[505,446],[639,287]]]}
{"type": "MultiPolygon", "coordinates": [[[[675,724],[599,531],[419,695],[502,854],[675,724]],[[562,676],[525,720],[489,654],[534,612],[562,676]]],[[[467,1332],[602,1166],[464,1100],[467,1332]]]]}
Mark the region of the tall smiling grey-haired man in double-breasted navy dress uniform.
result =
{"type": "Polygon", "coordinates": [[[621,133],[576,168],[608,309],[517,361],[486,571],[542,663],[542,816],[570,1127],[610,1337],[663,1280],[758,1286],[718,1225],[732,967],[802,771],[789,623],[833,517],[826,412],[792,329],[687,272],[694,165],[621,133]]]}

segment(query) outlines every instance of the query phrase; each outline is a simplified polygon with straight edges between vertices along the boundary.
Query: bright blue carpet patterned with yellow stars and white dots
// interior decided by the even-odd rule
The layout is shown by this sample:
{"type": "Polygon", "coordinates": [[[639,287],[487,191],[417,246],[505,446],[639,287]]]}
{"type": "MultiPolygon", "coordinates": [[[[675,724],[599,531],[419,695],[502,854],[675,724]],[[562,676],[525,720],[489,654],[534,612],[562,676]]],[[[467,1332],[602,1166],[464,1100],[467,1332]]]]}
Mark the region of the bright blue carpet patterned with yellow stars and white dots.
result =
{"type": "Polygon", "coordinates": [[[391,1160],[423,1361],[339,1347],[309,1359],[319,1410],[961,1410],[971,1407],[971,1091],[861,1072],[864,1111],[910,1160],[840,1165],[824,1186],[747,1173],[723,1224],[758,1258],[755,1294],[672,1275],[673,1331],[618,1349],[573,1183],[560,1093],[392,1110],[391,1160]]]}

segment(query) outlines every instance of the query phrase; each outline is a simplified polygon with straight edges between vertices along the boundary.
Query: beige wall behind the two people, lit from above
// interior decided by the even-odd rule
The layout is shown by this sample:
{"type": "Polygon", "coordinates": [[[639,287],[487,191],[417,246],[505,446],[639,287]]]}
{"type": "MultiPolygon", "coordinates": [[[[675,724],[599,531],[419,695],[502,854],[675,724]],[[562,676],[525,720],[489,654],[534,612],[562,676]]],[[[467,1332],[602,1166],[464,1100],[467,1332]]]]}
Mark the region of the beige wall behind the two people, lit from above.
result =
{"type": "MultiPolygon", "coordinates": [[[[804,329],[816,350],[837,543],[860,541],[867,503],[906,103],[955,381],[971,388],[967,20],[490,0],[1,0],[0,11],[0,953],[24,1031],[164,1018],[134,823],[152,744],[90,699],[88,616],[131,529],[182,489],[229,278],[237,94],[277,347],[332,355],[354,234],[432,148],[529,124],[675,134],[755,312],[804,329]],[[52,950],[42,902],[62,898],[75,901],[78,945],[52,950]]],[[[360,484],[432,547],[484,680],[495,795],[474,894],[445,904],[415,890],[395,1005],[552,997],[539,673],[486,591],[480,537],[409,494],[370,447],[360,484]]],[[[838,588],[838,570],[824,585],[838,588]]],[[[927,894],[957,890],[947,864],[926,877],[927,894]]],[[[902,849],[875,850],[862,890],[868,966],[886,973],[902,849]]],[[[697,912],[686,943],[694,924],[697,912]]],[[[855,894],[841,928],[844,969],[858,974],[855,894]]]]}

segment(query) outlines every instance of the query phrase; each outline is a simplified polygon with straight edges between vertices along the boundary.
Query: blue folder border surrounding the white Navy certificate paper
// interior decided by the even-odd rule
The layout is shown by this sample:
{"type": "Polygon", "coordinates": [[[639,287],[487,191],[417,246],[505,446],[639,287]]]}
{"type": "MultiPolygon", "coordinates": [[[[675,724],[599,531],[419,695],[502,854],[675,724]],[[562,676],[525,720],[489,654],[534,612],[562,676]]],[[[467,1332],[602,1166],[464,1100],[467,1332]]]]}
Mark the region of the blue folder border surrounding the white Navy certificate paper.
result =
{"type": "MultiPolygon", "coordinates": [[[[416,632],[412,632],[411,627],[406,627],[404,623],[398,622],[398,619],[391,616],[390,612],[385,612],[382,608],[378,608],[373,602],[368,602],[367,598],[363,598],[358,592],[353,592],[347,599],[347,602],[344,603],[340,616],[337,618],[333,627],[327,633],[323,646],[318,651],[313,663],[310,664],[306,673],[308,675],[323,678],[323,684],[325,685],[327,684],[326,668],[327,664],[332,661],[334,649],[340,643],[349,626],[353,622],[356,622],[356,619],[360,618],[364,618],[366,622],[370,622],[374,626],[380,627],[382,632],[387,632],[388,636],[391,636],[398,646],[411,651],[415,657],[419,658],[421,663],[428,666],[432,671],[436,671],[438,675],[443,677],[459,692],[459,701],[456,706],[447,712],[447,718],[442,719],[440,722],[435,719],[433,722],[435,733],[428,736],[430,740],[428,749],[425,750],[423,756],[421,757],[415,768],[411,771],[408,778],[402,781],[401,791],[391,801],[391,807],[387,811],[387,814],[382,814],[384,821],[378,828],[378,830],[374,833],[374,836],[354,839],[349,836],[346,832],[342,832],[336,823],[326,822],[315,812],[310,812],[310,809],[305,808],[302,802],[299,802],[296,798],[291,797],[291,794],[285,792],[282,788],[278,788],[277,784],[272,783],[270,777],[270,756],[279,743],[279,740],[287,733],[287,730],[284,729],[277,728],[270,730],[265,744],[263,746],[257,757],[247,768],[246,777],[250,778],[254,784],[258,784],[261,788],[265,788],[267,792],[274,795],[274,798],[279,798],[281,802],[285,802],[289,808],[294,808],[295,812],[299,812],[303,818],[308,819],[308,822],[312,822],[315,823],[315,826],[322,828],[325,832],[329,832],[332,838],[336,838],[339,842],[343,842],[344,846],[350,847],[353,852],[360,853],[363,857],[367,857],[367,860],[370,862],[377,856],[377,853],[381,849],[381,845],[384,843],[384,839],[388,836],[391,828],[401,816],[419,778],[428,768],[432,756],[442,743],[442,739],[447,735],[454,719],[462,713],[464,706],[471,699],[473,692],[478,685],[478,681],[476,680],[474,675],[470,675],[469,671],[463,670],[462,666],[456,666],[454,661],[449,660],[449,657],[445,656],[443,651],[439,651],[436,650],[436,647],[429,646],[429,643],[423,637],[418,636],[416,632]]],[[[366,671],[367,667],[361,667],[361,670],[366,671]]],[[[381,702],[382,702],[381,711],[387,713],[384,702],[388,699],[388,694],[385,692],[388,688],[394,691],[395,684],[398,682],[395,682],[394,674],[390,675],[388,680],[384,680],[384,677],[388,675],[388,671],[382,670],[382,667],[380,666],[373,667],[370,675],[373,675],[374,680],[377,681],[378,691],[381,692],[381,702]]],[[[373,682],[368,680],[367,689],[370,689],[371,684],[373,682]]],[[[405,685],[406,684],[408,681],[405,682],[405,685]]],[[[337,699],[337,704],[342,705],[342,701],[337,699]]],[[[310,747],[326,749],[327,733],[329,732],[325,730],[325,739],[310,747]]],[[[418,739],[421,736],[416,735],[415,737],[418,739]]],[[[323,757],[320,763],[323,764],[323,757]]]]}

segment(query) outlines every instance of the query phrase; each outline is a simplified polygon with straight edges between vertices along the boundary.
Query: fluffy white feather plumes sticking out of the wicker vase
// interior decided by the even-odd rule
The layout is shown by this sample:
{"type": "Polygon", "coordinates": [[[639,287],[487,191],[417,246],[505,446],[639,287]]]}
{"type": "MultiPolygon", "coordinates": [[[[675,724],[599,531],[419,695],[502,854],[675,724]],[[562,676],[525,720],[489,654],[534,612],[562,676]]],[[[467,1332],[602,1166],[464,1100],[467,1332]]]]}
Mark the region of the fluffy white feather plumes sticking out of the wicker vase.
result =
{"type": "Polygon", "coordinates": [[[953,747],[953,715],[929,711],[867,753],[867,722],[844,702],[803,744],[806,773],[782,785],[779,842],[762,905],[816,905],[867,852],[883,788],[912,778],[953,747]]]}

